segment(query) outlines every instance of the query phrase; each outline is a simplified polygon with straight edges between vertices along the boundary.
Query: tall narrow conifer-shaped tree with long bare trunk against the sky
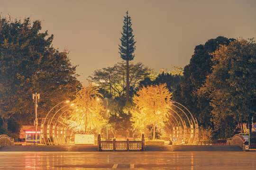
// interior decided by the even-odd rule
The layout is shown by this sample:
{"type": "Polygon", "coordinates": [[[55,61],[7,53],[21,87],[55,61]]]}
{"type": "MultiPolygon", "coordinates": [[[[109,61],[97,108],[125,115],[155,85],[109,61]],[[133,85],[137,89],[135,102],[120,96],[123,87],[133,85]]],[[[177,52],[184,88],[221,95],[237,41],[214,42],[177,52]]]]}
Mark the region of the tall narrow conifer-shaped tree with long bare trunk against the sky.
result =
{"type": "Polygon", "coordinates": [[[128,11],[124,17],[124,26],[122,37],[120,38],[121,45],[119,45],[119,53],[122,59],[126,60],[126,101],[129,101],[129,61],[134,58],[134,51],[136,49],[134,35],[131,28],[131,17],[128,16],[128,11]]]}

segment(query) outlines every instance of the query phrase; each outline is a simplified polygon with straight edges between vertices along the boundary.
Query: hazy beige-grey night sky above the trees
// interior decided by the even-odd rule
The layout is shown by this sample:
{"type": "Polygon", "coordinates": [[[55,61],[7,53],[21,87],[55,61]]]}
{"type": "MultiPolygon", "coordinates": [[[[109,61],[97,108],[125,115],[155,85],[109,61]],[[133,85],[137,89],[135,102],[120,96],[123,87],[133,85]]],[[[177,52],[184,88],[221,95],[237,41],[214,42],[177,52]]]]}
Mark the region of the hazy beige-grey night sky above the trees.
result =
{"type": "Polygon", "coordinates": [[[0,0],[2,16],[42,20],[54,47],[70,50],[81,81],[122,61],[127,9],[137,41],[132,62],[156,71],[184,67],[194,47],[211,38],[256,37],[256,0],[0,0]]]}

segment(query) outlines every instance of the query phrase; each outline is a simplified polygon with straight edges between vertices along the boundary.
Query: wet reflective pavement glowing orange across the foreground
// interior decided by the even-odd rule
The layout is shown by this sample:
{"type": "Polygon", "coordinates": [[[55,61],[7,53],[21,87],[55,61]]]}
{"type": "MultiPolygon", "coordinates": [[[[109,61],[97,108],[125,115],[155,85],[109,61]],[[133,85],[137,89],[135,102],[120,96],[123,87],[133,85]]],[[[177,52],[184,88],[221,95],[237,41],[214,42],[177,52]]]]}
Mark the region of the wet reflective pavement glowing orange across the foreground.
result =
{"type": "Polygon", "coordinates": [[[0,152],[1,170],[256,169],[256,152],[0,152]]]}

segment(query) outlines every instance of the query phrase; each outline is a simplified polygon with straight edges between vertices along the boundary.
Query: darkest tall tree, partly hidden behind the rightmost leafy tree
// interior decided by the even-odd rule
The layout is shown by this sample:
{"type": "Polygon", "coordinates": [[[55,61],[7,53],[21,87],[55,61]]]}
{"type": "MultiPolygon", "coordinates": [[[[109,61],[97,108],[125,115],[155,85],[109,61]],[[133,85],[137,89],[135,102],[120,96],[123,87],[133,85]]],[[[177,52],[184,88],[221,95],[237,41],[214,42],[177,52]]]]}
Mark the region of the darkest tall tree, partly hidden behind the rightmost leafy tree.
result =
{"type": "Polygon", "coordinates": [[[219,36],[208,40],[204,45],[196,46],[189,65],[184,67],[183,81],[174,91],[174,101],[186,106],[198,120],[199,126],[204,128],[212,127],[210,99],[207,93],[198,97],[195,92],[211,73],[212,61],[209,53],[216,51],[220,44],[229,44],[233,40],[219,36]]]}

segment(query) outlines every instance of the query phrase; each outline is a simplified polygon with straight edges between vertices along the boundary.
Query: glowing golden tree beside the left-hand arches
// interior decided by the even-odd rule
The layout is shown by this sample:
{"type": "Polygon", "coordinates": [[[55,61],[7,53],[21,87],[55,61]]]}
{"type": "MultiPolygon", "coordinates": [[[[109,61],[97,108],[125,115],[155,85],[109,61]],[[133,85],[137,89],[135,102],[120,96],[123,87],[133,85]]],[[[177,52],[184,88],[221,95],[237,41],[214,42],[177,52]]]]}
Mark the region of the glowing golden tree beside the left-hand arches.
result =
{"type": "Polygon", "coordinates": [[[97,86],[83,86],[73,100],[76,110],[70,115],[69,127],[74,131],[84,130],[84,134],[98,132],[107,124],[105,108],[101,105],[102,94],[97,86]]]}

